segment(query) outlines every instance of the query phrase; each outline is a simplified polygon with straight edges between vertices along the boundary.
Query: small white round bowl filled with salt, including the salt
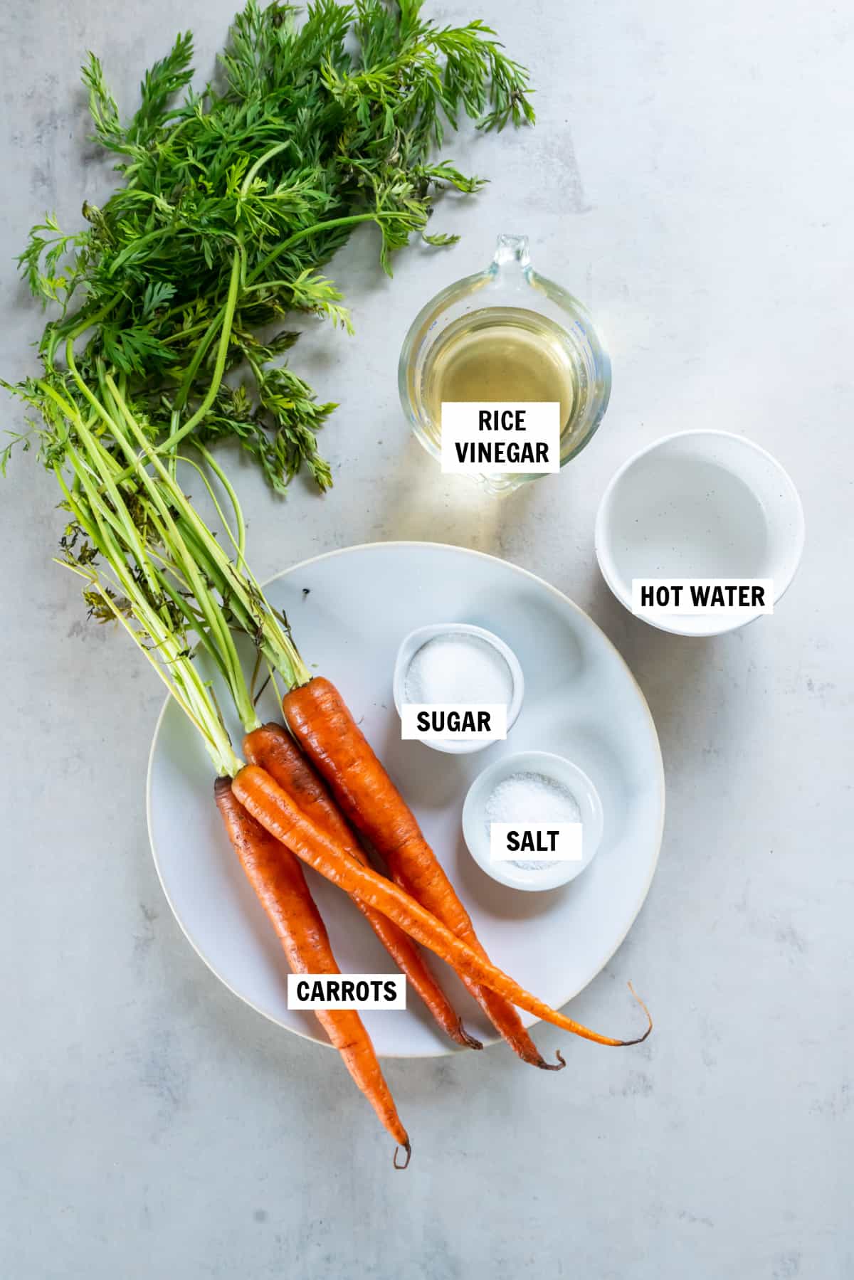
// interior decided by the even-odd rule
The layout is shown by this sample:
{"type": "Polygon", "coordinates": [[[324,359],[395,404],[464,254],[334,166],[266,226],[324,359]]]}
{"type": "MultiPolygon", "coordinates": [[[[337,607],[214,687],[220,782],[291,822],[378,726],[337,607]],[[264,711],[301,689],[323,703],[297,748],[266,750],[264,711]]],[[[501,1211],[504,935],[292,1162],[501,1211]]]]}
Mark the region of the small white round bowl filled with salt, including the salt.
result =
{"type": "Polygon", "coordinates": [[[479,773],[462,806],[462,835],[478,865],[498,881],[528,892],[567,884],[589,867],[602,842],[602,801],[584,769],[551,751],[503,755],[479,773]],[[581,823],[581,858],[556,861],[540,855],[493,859],[493,822],[525,828],[581,823]]]}

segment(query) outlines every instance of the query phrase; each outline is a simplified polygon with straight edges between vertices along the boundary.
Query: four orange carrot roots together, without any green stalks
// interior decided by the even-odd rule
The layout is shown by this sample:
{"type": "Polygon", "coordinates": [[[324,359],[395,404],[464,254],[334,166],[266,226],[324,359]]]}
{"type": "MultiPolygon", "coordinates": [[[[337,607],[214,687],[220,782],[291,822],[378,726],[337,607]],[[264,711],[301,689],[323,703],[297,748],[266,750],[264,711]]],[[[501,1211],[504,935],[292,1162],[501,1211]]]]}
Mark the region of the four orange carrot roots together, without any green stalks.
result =
{"type": "MultiPolygon", "coordinates": [[[[526,1062],[545,1070],[560,1070],[565,1065],[560,1052],[556,1064],[543,1060],[515,1004],[599,1044],[635,1044],[647,1038],[652,1020],[635,1039],[602,1036],[530,996],[490,963],[469,913],[421,835],[411,809],[328,680],[314,677],[288,692],[283,710],[296,742],[283,727],[262,726],[245,739],[243,750],[250,764],[230,783],[228,778],[218,778],[214,790],[232,844],[293,972],[338,970],[305,878],[293,859],[286,860],[284,850],[291,850],[353,897],[437,1023],[457,1043],[481,1047],[463,1029],[407,934],[457,970],[493,1025],[526,1062]],[[310,760],[323,771],[333,794],[310,760]],[[342,808],[385,855],[391,879],[369,867],[342,808]],[[378,927],[382,918],[383,927],[378,927]]],[[[361,1020],[353,1012],[319,1011],[318,1018],[379,1119],[405,1148],[408,1162],[408,1135],[361,1020]]]]}

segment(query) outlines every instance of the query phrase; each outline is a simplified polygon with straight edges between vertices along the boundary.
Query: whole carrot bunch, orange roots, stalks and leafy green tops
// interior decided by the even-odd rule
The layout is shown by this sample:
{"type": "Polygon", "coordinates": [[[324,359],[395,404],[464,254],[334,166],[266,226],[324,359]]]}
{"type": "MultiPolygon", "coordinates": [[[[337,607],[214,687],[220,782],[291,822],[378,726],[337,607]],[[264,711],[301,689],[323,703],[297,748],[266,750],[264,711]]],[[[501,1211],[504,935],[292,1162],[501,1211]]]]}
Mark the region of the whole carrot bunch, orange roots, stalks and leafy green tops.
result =
{"type": "MultiPolygon", "coordinates": [[[[297,335],[261,344],[255,330],[294,307],[343,319],[337,291],[302,262],[302,251],[325,260],[352,225],[371,221],[387,262],[411,232],[425,232],[435,188],[478,188],[448,161],[426,164],[443,120],[456,128],[469,115],[485,129],[533,120],[528,76],[494,33],[479,22],[439,28],[420,8],[420,0],[321,0],[297,32],[289,5],[248,0],[224,56],[225,90],[207,86],[173,106],[192,74],[189,38],[181,37],[146,76],[127,128],[92,58],[95,128],[118,154],[124,187],[104,210],[85,206],[85,233],[63,236],[52,219],[35,228],[22,268],[60,317],[45,329],[41,376],[10,390],[33,413],[40,458],[68,515],[60,563],[83,579],[90,612],[127,630],[198,731],[225,831],[291,968],[338,972],[306,864],[352,897],[456,1044],[480,1048],[419,945],[456,970],[522,1061],[558,1070],[563,1059],[543,1060],[517,1009],[600,1044],[638,1043],[652,1023],[635,1039],[600,1036],[489,960],[343,698],[311,676],[287,620],[265,599],[246,559],[239,502],[206,448],[233,435],[277,485],[303,457],[329,483],[314,438],[329,407],[319,411],[305,384],[265,365],[297,335]],[[356,63],[344,33],[361,41],[356,63]],[[224,380],[242,358],[256,375],[255,408],[245,388],[224,380]],[[224,536],[178,483],[187,467],[224,536]],[[280,724],[259,721],[241,635],[256,668],[284,686],[280,724]],[[196,652],[214,663],[233,701],[243,759],[196,652]]],[[[28,448],[32,434],[17,439],[28,448]]],[[[0,471],[8,457],[0,453],[0,471]]],[[[410,1139],[359,1014],[316,1016],[405,1167],[410,1139]]]]}

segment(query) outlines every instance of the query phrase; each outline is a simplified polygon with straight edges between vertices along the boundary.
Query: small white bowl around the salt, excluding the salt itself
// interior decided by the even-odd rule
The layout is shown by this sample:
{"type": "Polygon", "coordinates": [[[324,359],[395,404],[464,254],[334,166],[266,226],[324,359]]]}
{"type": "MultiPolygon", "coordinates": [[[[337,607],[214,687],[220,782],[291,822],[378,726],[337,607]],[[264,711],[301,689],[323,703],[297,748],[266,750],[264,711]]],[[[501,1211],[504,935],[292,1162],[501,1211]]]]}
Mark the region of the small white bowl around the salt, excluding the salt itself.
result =
{"type": "MultiPolygon", "coordinates": [[[[531,823],[535,822],[536,814],[531,813],[531,823]]],[[[516,751],[513,755],[502,755],[499,760],[487,765],[478,774],[469,787],[462,806],[462,835],[478,867],[499,884],[510,884],[511,888],[521,888],[526,892],[557,888],[580,876],[595,856],[602,842],[602,801],[593,782],[577,764],[572,764],[562,755],[553,755],[551,751],[516,751]],[[530,868],[515,867],[512,861],[492,860],[489,856],[487,803],[498,783],[504,782],[513,773],[539,773],[572,792],[581,810],[584,828],[581,836],[583,856],[579,861],[560,861],[540,870],[531,870],[530,868]]]]}

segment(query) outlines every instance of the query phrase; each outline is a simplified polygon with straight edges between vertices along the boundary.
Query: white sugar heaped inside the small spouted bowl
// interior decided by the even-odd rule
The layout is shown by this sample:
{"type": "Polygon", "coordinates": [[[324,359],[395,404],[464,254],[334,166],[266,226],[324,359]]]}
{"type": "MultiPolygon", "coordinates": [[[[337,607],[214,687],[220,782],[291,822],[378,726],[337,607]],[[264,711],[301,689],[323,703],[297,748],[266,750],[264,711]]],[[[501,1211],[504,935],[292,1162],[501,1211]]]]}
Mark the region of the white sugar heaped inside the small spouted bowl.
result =
{"type": "Polygon", "coordinates": [[[407,703],[504,703],[513,696],[513,677],[502,654],[488,640],[448,631],[416,652],[406,672],[407,703]]]}

